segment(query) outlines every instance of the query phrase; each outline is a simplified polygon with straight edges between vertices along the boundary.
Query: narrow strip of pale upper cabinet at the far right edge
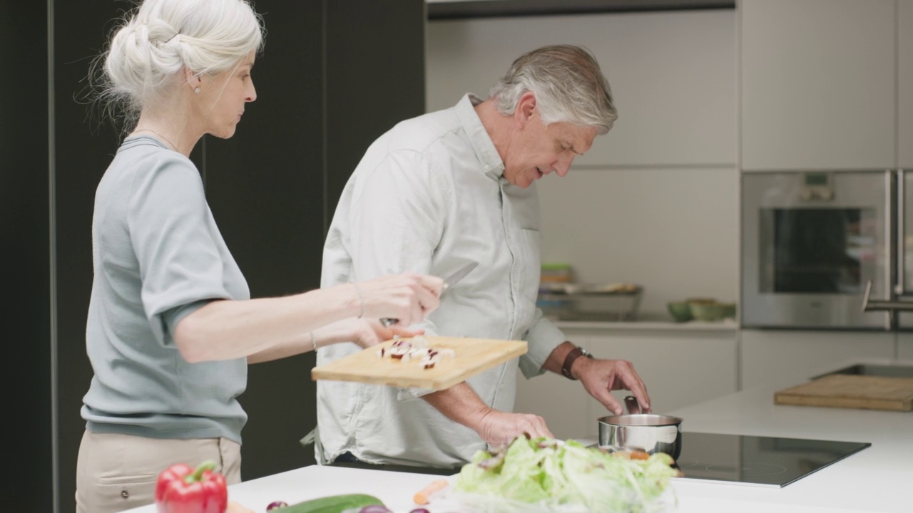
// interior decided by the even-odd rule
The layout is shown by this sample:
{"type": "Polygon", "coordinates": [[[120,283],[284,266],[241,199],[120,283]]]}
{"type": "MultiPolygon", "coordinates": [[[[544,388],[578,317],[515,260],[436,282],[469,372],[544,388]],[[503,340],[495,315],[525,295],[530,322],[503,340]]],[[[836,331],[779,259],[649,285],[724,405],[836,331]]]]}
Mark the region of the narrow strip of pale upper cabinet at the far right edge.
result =
{"type": "Polygon", "coordinates": [[[897,67],[898,163],[913,170],[913,0],[897,3],[897,67]]]}

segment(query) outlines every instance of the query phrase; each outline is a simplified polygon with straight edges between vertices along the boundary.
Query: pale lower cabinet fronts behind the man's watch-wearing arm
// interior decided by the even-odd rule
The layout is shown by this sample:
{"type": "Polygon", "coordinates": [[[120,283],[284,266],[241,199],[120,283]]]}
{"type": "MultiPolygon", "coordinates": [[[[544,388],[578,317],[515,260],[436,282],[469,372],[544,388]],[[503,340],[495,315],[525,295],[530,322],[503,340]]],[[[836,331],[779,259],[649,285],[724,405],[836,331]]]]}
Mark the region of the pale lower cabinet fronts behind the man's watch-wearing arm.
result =
{"type": "MultiPolygon", "coordinates": [[[[634,363],[650,394],[653,411],[663,413],[737,390],[736,330],[564,330],[569,340],[597,358],[634,363]]],[[[627,392],[613,395],[619,401],[627,392]]],[[[602,403],[557,374],[519,378],[517,412],[545,418],[560,438],[596,437],[602,403]]]]}

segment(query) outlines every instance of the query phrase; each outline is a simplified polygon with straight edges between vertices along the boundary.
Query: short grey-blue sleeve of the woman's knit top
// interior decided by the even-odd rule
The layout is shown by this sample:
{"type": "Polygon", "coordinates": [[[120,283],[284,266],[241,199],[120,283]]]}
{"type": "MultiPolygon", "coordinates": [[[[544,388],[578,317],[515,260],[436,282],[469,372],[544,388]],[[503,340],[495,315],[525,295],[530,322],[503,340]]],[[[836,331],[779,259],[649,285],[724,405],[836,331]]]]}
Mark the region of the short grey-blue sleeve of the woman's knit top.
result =
{"type": "Polygon", "coordinates": [[[211,222],[200,174],[177,155],[153,158],[160,160],[133,183],[127,223],[140,268],[143,309],[155,338],[167,345],[173,343],[176,322],[207,299],[231,295],[219,249],[222,238],[211,222]]]}

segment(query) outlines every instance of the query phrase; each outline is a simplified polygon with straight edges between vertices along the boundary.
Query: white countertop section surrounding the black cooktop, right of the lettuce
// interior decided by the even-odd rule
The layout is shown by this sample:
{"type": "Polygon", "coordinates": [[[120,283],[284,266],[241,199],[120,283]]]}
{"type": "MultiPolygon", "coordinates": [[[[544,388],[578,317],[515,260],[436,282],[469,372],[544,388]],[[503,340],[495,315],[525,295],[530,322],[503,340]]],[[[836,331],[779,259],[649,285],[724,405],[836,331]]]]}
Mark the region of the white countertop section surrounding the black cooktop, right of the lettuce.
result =
{"type": "Polygon", "coordinates": [[[787,406],[761,386],[671,412],[686,432],[872,445],[782,488],[677,481],[677,511],[913,511],[913,413],[787,406]]]}

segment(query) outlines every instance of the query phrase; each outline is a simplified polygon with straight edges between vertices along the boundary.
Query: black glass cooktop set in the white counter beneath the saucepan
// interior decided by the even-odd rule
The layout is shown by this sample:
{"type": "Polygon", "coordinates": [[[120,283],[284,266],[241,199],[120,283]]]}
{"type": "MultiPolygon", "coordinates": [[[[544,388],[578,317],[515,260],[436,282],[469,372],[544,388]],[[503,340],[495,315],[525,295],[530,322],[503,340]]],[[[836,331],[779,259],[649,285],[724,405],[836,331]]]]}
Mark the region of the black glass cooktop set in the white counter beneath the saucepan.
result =
{"type": "Polygon", "coordinates": [[[745,434],[682,433],[682,480],[785,487],[871,444],[745,434]]]}

